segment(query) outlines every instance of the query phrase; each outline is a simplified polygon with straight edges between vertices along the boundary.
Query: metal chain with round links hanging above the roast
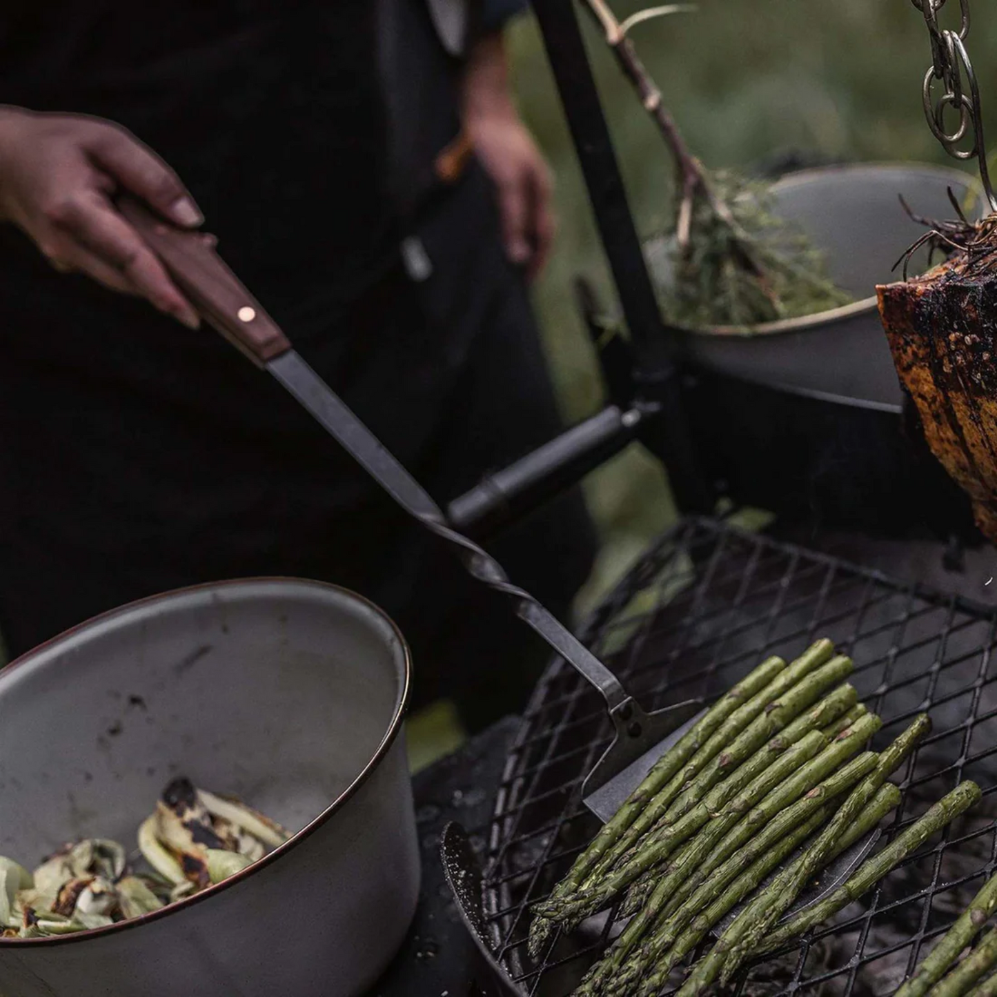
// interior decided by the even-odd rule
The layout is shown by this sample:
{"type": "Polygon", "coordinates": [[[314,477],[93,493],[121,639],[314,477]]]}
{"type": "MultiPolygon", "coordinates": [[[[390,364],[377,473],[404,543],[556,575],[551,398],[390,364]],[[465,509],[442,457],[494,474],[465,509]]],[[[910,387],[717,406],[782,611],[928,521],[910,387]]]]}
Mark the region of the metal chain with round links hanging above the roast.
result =
{"type": "Polygon", "coordinates": [[[924,76],[921,89],[928,128],[949,156],[957,160],[978,161],[983,192],[990,203],[990,209],[997,211],[997,196],[994,195],[990,182],[987,147],[983,139],[980,88],[966,51],[969,0],[959,0],[958,31],[942,28],[938,24],[938,13],[945,6],[946,0],[910,2],[924,15],[924,23],[931,36],[931,66],[924,76]],[[939,82],[944,93],[935,96],[936,84],[939,82]],[[956,126],[950,131],[945,128],[945,113],[949,109],[958,115],[956,126]],[[967,139],[971,143],[968,148],[967,139]]]}

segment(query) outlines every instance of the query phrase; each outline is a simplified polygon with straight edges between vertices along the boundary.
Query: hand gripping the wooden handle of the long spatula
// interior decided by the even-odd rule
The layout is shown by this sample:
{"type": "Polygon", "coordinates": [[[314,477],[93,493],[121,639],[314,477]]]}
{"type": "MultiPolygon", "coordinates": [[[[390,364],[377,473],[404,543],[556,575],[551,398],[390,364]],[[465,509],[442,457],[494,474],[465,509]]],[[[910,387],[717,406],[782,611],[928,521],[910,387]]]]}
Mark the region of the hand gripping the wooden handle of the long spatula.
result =
{"type": "Polygon", "coordinates": [[[145,297],[196,328],[197,313],[116,209],[119,190],[182,227],[203,220],[176,174],[117,125],[0,108],[0,220],[22,228],[57,270],[145,297]]]}

